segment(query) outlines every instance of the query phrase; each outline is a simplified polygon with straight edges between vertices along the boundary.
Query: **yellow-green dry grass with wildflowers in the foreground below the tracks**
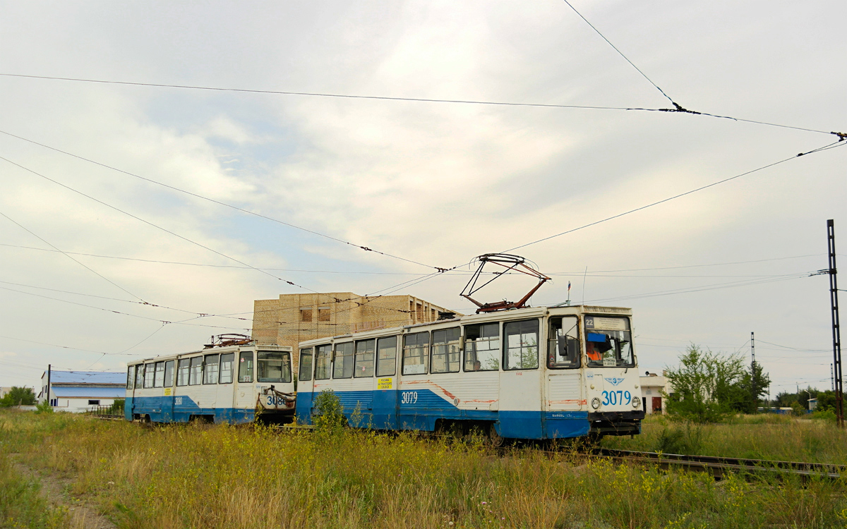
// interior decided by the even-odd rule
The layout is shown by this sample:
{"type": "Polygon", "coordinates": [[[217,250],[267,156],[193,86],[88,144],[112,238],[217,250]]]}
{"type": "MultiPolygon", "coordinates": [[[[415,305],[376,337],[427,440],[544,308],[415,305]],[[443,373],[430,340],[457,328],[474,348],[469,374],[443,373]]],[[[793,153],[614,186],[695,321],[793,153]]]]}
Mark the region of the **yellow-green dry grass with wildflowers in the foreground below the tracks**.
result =
{"type": "MultiPolygon", "coordinates": [[[[0,413],[0,451],[63,472],[119,527],[834,527],[847,483],[492,455],[478,444],[0,413]],[[110,484],[113,482],[113,484],[110,484]]],[[[796,458],[794,458],[796,459],[796,458]]]]}

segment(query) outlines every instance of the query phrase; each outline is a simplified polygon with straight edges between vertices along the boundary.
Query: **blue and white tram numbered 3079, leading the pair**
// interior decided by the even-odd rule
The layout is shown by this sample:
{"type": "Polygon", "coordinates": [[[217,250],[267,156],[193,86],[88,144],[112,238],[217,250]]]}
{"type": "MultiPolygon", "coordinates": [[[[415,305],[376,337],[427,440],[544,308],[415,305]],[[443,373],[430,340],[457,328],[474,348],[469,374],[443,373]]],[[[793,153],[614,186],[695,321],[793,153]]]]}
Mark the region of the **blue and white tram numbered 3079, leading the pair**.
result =
{"type": "Polygon", "coordinates": [[[331,389],[358,427],[477,427],[495,444],[640,433],[631,314],[522,308],[308,340],[297,421],[310,423],[331,389]]]}

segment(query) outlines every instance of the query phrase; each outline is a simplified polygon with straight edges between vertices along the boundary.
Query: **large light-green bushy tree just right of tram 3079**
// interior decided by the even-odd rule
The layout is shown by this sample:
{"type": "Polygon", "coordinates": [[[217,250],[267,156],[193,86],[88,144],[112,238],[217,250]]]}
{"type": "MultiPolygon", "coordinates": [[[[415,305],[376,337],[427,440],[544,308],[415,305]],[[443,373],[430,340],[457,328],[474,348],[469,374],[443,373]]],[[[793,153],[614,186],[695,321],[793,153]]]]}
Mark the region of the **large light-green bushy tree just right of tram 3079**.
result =
{"type": "Polygon", "coordinates": [[[739,382],[745,373],[739,355],[718,355],[691,344],[678,367],[666,376],[673,394],[666,395],[667,412],[693,422],[720,422],[745,400],[739,382]]]}

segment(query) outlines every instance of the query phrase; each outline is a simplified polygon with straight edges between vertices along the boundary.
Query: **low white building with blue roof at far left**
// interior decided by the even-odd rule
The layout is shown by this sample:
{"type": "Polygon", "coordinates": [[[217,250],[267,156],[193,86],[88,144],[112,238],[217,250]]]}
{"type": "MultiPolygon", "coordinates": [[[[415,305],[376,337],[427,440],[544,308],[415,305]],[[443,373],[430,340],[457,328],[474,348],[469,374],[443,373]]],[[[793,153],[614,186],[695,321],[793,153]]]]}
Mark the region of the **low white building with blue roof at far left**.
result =
{"type": "Polygon", "coordinates": [[[51,371],[49,377],[47,388],[45,371],[38,401],[49,399],[56,411],[81,413],[91,410],[91,406],[111,405],[126,395],[125,372],[51,371]]]}

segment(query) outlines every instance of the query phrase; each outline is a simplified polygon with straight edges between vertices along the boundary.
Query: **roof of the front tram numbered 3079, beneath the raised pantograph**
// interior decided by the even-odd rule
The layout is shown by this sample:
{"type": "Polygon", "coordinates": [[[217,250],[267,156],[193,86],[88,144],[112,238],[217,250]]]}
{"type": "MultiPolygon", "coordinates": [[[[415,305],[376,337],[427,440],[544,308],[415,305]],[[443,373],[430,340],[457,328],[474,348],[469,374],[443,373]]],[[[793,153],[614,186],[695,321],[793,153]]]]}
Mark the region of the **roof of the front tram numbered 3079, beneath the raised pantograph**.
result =
{"type": "Polygon", "coordinates": [[[567,306],[534,306],[523,309],[512,309],[509,311],[483,312],[481,314],[468,314],[466,316],[454,317],[446,320],[436,320],[435,322],[412,323],[412,325],[403,325],[401,327],[386,327],[363,331],[361,333],[339,334],[337,336],[327,336],[324,338],[303,340],[300,342],[302,346],[310,346],[317,344],[325,344],[327,341],[336,341],[346,338],[356,337],[357,339],[367,339],[372,336],[383,336],[386,331],[391,329],[401,329],[405,331],[412,328],[435,327],[448,328],[457,323],[484,323],[484,322],[499,322],[502,320],[511,320],[521,317],[540,317],[545,314],[567,315],[567,314],[617,314],[621,316],[631,316],[632,309],[623,306],[595,306],[595,305],[567,305],[567,306]]]}

